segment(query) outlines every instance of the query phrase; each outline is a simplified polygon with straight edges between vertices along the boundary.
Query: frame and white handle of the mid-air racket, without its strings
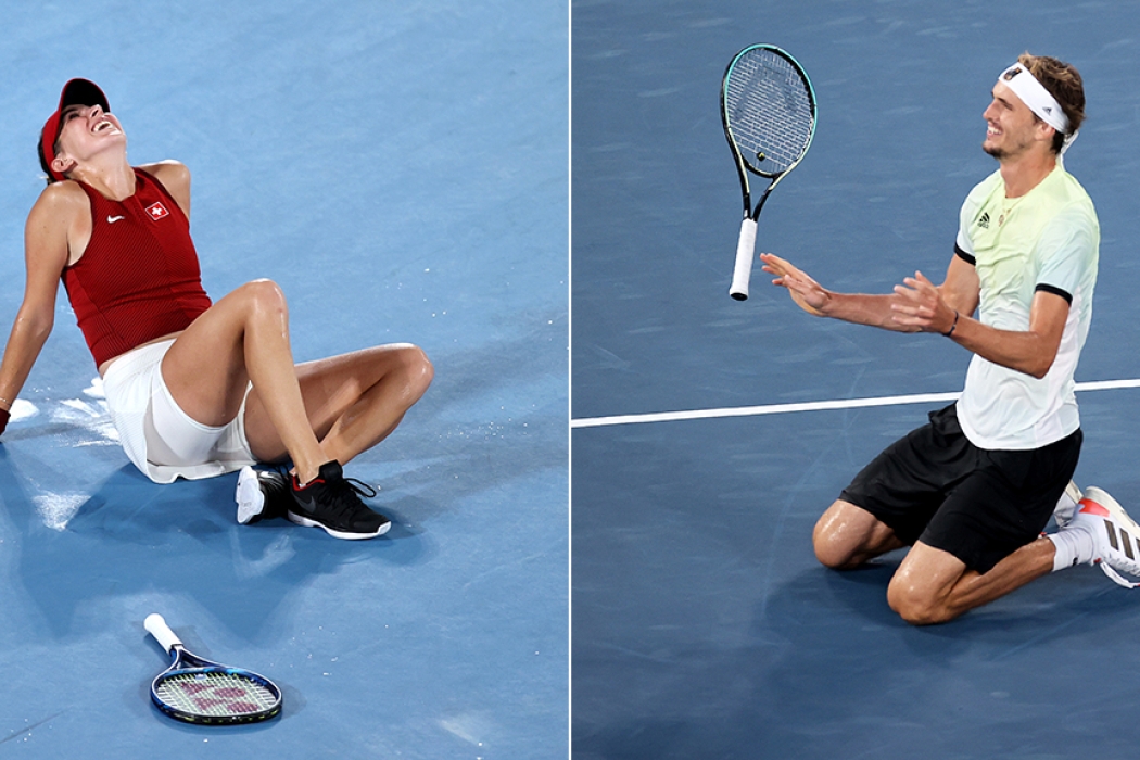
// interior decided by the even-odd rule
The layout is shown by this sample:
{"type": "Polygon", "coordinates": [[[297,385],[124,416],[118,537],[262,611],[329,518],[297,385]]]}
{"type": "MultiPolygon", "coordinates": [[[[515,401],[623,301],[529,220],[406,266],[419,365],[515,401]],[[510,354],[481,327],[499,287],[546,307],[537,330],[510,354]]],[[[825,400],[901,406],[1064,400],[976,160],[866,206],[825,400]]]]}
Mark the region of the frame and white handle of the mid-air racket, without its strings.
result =
{"type": "Polygon", "coordinates": [[[804,71],[800,63],[796,60],[796,58],[793,58],[787,50],[783,50],[774,44],[750,44],[732,57],[732,60],[728,62],[728,66],[724,70],[724,76],[720,79],[720,124],[724,126],[724,137],[728,140],[728,147],[732,149],[732,157],[736,164],[736,174],[740,177],[740,190],[744,202],[744,214],[740,224],[740,237],[736,244],[736,263],[733,268],[732,285],[728,288],[728,295],[738,301],[744,301],[748,299],[748,281],[752,269],[752,254],[756,250],[756,226],[757,220],[760,218],[760,211],[764,209],[764,203],[768,199],[768,195],[773,189],[775,189],[776,185],[780,183],[780,180],[787,177],[788,173],[798,166],[799,162],[804,160],[804,156],[807,155],[807,149],[812,147],[812,140],[815,138],[816,101],[815,88],[812,85],[812,80],[808,77],[807,72],[804,71]],[[800,79],[803,79],[804,83],[807,85],[807,98],[812,107],[812,123],[808,128],[807,141],[799,152],[799,156],[791,162],[787,169],[776,172],[766,172],[744,161],[740,146],[736,145],[736,138],[732,133],[732,124],[730,124],[728,120],[728,77],[732,75],[732,70],[736,66],[736,63],[741,58],[752,50],[758,49],[768,50],[791,64],[792,68],[797,74],[799,74],[800,79]],[[752,206],[752,194],[748,181],[749,172],[772,180],[764,189],[764,193],[760,195],[760,199],[756,203],[755,207],[752,206]]]}

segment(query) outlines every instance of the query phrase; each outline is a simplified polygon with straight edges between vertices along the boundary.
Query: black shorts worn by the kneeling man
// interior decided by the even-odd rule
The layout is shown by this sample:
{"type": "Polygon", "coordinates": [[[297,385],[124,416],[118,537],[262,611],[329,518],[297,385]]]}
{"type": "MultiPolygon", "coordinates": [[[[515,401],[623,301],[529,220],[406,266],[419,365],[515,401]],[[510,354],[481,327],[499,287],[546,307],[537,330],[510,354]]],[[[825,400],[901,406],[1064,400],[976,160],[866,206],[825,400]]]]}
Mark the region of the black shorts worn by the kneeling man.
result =
{"type": "Polygon", "coordinates": [[[840,498],[904,544],[920,540],[984,573],[1041,534],[1073,477],[1083,438],[1077,430],[1040,449],[979,449],[951,404],[890,444],[840,498]]]}

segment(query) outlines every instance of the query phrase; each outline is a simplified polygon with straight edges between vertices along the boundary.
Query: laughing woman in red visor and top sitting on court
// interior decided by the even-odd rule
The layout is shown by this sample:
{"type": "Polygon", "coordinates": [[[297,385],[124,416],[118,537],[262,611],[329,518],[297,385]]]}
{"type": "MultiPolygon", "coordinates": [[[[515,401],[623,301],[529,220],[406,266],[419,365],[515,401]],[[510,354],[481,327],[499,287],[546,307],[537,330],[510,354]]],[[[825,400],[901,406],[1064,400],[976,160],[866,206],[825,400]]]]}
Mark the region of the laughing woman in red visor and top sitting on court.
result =
{"type": "Polygon", "coordinates": [[[341,465],[386,438],[427,390],[409,344],[295,365],[280,288],[254,280],[217,303],[190,240],[190,174],[132,167],[95,83],[72,80],[44,124],[48,187],[27,218],[24,301],[0,365],[0,432],[55,317],[63,279],[128,457],[157,483],[242,469],[238,521],[286,515],[337,538],[389,521],[341,465]],[[291,459],[286,479],[250,465],[291,459]]]}

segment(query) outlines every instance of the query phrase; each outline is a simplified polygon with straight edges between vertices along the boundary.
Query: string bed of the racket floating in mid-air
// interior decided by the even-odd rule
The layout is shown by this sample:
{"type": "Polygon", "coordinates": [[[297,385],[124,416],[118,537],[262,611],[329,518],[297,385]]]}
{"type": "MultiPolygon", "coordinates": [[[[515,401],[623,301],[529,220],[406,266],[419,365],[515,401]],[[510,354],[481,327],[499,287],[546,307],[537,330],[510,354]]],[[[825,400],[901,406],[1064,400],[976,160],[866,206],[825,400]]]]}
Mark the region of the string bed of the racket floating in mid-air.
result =
{"type": "Polygon", "coordinates": [[[787,171],[811,144],[811,85],[791,62],[771,50],[750,51],[734,63],[725,82],[725,107],[741,155],[756,171],[787,171]]]}

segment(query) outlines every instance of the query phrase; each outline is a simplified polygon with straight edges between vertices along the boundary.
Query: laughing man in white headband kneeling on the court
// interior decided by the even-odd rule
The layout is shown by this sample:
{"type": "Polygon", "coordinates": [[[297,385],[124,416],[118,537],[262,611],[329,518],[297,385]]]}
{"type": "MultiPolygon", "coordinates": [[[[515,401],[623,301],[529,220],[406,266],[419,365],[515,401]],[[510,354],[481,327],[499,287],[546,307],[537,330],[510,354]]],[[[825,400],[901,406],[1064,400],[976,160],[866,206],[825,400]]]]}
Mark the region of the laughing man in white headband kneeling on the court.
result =
{"type": "Polygon", "coordinates": [[[1060,160],[1084,119],[1081,76],[1025,54],[992,96],[982,147],[999,169],[962,205],[942,285],[915,272],[893,294],[840,294],[760,256],[812,313],[940,333],[975,354],[958,402],[856,475],[813,534],[816,557],[834,569],[912,546],[887,599],[915,624],[1082,563],[1122,585],[1115,571],[1140,575],[1140,528],[1100,489],[1082,499],[1070,483],[1082,440],[1073,375],[1100,246],[1092,201],[1060,160]],[[1059,530],[1041,536],[1051,514],[1059,530]]]}

